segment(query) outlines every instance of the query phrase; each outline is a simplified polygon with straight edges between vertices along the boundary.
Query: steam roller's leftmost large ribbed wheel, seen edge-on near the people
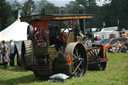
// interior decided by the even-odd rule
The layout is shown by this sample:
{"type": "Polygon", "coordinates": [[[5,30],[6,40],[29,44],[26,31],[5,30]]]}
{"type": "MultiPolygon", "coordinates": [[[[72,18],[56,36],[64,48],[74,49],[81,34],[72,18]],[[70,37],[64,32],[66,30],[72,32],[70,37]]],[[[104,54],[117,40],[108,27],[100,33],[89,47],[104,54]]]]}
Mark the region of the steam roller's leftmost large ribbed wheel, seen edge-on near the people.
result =
{"type": "Polygon", "coordinates": [[[31,70],[33,65],[33,44],[31,40],[22,42],[21,59],[24,69],[31,70]]]}

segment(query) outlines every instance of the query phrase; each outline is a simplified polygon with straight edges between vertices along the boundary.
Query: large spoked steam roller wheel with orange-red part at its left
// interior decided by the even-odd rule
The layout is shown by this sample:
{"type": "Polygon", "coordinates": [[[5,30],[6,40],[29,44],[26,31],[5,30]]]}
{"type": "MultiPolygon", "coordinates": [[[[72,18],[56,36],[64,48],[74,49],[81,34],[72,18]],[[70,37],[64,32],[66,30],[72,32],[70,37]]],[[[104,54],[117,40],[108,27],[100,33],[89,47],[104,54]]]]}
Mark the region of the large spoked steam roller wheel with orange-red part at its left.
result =
{"type": "Polygon", "coordinates": [[[75,77],[83,76],[87,70],[87,55],[84,46],[78,42],[69,43],[65,48],[65,54],[67,55],[66,63],[71,66],[70,74],[75,77]]]}

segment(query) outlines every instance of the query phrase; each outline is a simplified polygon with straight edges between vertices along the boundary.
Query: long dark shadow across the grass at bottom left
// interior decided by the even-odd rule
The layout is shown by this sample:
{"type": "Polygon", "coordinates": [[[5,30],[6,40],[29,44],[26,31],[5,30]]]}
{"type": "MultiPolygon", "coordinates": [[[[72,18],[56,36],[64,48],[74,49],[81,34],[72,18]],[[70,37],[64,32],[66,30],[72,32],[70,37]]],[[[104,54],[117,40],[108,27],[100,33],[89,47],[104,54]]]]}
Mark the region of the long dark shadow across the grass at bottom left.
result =
{"type": "Polygon", "coordinates": [[[8,80],[0,80],[0,85],[18,85],[18,84],[29,84],[33,82],[42,82],[35,78],[33,75],[26,75],[8,80]]]}

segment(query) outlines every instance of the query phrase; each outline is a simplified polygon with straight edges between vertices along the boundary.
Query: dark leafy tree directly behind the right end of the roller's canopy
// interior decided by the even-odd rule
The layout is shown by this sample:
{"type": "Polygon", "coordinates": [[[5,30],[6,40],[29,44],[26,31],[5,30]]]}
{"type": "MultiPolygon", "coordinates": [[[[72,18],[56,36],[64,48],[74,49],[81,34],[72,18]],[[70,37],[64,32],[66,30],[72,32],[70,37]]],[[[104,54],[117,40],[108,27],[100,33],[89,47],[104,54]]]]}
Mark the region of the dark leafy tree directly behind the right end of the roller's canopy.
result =
{"type": "MultiPolygon", "coordinates": [[[[93,14],[95,16],[98,13],[99,7],[96,5],[96,0],[76,0],[77,10],[80,14],[93,14]]],[[[74,8],[76,9],[76,8],[74,8]]],[[[97,19],[86,20],[86,28],[96,27],[97,19]]]]}

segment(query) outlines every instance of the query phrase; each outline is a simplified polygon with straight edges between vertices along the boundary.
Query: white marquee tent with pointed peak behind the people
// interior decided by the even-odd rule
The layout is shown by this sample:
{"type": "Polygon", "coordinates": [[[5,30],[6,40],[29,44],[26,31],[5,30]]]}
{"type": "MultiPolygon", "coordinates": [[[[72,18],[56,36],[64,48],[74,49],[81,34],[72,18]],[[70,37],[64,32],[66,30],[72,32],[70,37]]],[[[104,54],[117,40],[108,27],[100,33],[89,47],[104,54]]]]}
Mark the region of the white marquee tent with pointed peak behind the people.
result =
{"type": "Polygon", "coordinates": [[[20,19],[17,19],[13,24],[0,32],[0,41],[27,40],[27,26],[28,23],[20,22],[20,19]]]}

